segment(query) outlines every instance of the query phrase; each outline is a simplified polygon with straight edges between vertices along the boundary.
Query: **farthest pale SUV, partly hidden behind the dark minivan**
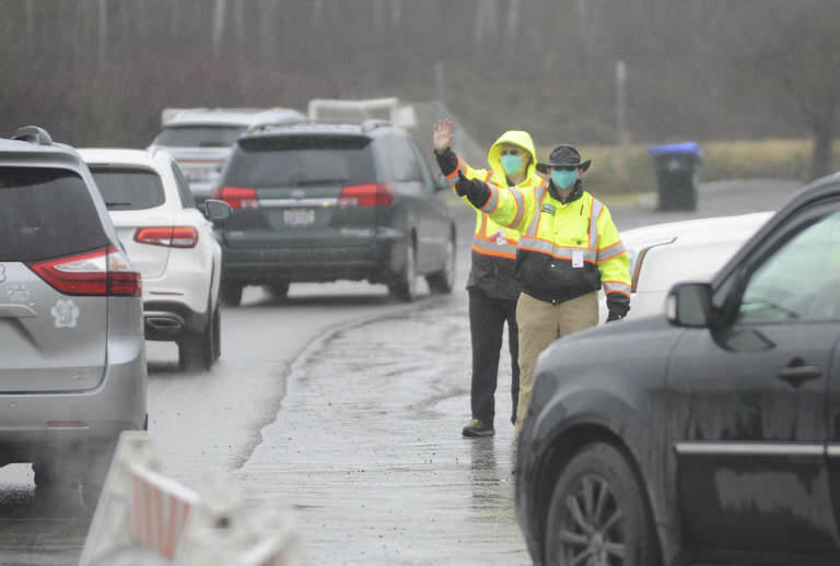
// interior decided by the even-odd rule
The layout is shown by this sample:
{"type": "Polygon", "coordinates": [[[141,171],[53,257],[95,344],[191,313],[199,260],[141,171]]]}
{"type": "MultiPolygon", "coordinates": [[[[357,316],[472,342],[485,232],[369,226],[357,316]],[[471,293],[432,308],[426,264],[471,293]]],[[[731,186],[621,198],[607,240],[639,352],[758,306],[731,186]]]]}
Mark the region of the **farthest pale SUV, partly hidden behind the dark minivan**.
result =
{"type": "Polygon", "coordinates": [[[293,108],[166,108],[163,129],[149,149],[165,149],[184,172],[192,194],[212,196],[240,133],[259,125],[292,123],[306,117],[293,108]]]}

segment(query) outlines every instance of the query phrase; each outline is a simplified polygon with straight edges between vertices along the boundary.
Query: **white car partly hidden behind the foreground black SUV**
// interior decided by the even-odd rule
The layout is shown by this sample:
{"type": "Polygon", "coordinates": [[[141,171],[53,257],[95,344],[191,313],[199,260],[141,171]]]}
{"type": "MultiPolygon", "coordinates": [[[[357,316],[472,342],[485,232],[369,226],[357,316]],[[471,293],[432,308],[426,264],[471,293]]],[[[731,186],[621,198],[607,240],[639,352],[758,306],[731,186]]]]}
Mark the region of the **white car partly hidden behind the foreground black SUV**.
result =
{"type": "MultiPolygon", "coordinates": [[[[711,278],[772,214],[667,222],[621,232],[632,278],[628,318],[664,313],[665,296],[674,283],[711,278]]],[[[602,323],[606,316],[600,292],[602,323]]]]}

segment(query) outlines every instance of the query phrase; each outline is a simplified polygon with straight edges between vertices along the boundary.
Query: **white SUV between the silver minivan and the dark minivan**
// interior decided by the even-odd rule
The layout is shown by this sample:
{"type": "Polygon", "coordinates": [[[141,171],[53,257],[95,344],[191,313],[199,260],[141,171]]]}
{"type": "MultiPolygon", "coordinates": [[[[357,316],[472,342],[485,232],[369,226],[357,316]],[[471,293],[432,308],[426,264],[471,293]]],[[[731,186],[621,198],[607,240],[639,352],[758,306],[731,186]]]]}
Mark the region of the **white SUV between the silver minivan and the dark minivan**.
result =
{"type": "MultiPolygon", "coordinates": [[[[222,251],[168,153],[82,149],[117,235],[142,276],[147,340],[175,341],[185,369],[209,369],[221,353],[222,251]]],[[[230,215],[205,203],[213,220],[230,215]]]]}

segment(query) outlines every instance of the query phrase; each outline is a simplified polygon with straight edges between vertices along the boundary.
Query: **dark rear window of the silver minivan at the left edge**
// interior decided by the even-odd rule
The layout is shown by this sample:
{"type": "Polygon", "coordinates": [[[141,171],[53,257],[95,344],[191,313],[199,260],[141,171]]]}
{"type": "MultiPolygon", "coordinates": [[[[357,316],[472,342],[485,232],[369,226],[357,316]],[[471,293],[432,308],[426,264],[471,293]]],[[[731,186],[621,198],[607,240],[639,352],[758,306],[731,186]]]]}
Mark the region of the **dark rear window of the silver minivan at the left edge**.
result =
{"type": "Polygon", "coordinates": [[[0,261],[58,258],[108,244],[79,175],[0,167],[0,261]]]}

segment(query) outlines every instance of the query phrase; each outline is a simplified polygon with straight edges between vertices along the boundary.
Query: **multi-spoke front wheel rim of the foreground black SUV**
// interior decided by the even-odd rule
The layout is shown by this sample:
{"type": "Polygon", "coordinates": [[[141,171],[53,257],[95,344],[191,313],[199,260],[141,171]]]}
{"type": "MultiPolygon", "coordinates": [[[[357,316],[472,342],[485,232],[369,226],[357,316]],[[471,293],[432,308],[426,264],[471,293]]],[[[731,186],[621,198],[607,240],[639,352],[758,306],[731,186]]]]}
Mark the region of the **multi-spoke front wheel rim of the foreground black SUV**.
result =
{"type": "Polygon", "coordinates": [[[562,564],[623,565],[623,512],[609,483],[597,475],[584,475],[564,504],[557,536],[562,564]]]}

